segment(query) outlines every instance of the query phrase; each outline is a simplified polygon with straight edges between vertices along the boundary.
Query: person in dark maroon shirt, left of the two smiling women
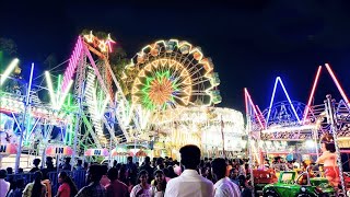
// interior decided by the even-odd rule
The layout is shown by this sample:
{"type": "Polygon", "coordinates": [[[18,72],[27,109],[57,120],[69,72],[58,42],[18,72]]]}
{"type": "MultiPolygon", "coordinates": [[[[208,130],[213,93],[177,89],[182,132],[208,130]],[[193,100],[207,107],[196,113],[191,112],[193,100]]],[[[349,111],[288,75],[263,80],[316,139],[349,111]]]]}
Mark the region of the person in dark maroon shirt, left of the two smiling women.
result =
{"type": "Polygon", "coordinates": [[[112,167],[107,172],[107,176],[110,179],[110,184],[106,186],[107,197],[128,197],[128,186],[119,182],[118,178],[118,170],[112,167]]]}

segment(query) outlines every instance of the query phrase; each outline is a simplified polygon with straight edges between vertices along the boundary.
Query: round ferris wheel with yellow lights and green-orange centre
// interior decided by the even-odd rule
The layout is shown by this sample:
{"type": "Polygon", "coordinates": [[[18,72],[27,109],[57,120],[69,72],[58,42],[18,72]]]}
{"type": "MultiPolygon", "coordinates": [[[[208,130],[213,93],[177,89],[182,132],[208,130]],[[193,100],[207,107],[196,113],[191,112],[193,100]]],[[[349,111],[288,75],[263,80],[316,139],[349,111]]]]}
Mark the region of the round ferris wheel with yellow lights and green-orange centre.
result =
{"type": "Polygon", "coordinates": [[[132,104],[152,111],[221,102],[211,59],[187,42],[158,40],[143,47],[131,62],[127,70],[135,70],[128,76],[132,104]]]}

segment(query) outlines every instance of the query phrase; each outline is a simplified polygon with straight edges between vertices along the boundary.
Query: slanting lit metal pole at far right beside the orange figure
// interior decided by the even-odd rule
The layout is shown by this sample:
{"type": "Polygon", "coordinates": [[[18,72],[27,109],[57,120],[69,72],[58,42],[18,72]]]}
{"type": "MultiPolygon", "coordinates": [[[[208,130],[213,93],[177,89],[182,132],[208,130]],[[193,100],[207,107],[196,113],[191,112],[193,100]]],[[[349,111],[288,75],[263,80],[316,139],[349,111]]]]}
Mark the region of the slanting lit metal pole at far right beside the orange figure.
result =
{"type": "Polygon", "coordinates": [[[331,95],[328,94],[327,96],[327,103],[328,104],[328,115],[329,115],[329,120],[330,120],[330,129],[331,129],[331,134],[332,134],[332,138],[335,140],[335,147],[336,147],[336,152],[338,154],[337,157],[337,163],[338,163],[338,167],[339,167],[339,177],[340,177],[340,184],[341,184],[341,190],[342,190],[342,194],[346,195],[346,187],[345,187],[345,181],[343,181],[343,174],[342,174],[342,163],[341,163],[341,154],[340,154],[340,150],[339,150],[339,147],[338,147],[338,140],[337,140],[337,116],[335,116],[335,101],[331,100],[331,95]]]}

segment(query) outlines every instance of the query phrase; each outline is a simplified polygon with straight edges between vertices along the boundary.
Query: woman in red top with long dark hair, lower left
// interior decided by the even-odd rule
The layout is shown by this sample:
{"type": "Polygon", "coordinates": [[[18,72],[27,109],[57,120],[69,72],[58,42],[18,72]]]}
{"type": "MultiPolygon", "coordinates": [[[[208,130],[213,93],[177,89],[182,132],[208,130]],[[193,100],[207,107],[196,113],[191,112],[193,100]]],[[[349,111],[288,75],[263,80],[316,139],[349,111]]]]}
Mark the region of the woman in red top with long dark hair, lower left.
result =
{"type": "Polygon", "coordinates": [[[71,197],[77,195],[78,188],[66,172],[59,173],[58,183],[61,185],[58,188],[57,197],[71,197]]]}

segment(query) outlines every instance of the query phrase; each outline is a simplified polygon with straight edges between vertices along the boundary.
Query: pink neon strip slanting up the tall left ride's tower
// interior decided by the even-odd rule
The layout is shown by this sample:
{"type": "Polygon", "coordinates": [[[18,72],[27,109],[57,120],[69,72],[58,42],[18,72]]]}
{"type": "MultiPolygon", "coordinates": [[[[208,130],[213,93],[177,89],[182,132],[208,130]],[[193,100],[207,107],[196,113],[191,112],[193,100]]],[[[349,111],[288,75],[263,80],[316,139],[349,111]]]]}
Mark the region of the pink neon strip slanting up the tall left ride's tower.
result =
{"type": "Polygon", "coordinates": [[[82,53],[82,38],[79,36],[78,37],[78,42],[75,44],[74,50],[69,59],[69,65],[68,68],[65,71],[65,76],[63,76],[63,80],[62,80],[62,85],[61,85],[61,91],[66,92],[66,89],[70,82],[70,80],[72,80],[74,71],[77,69],[78,66],[78,60],[79,57],[82,53]]]}

